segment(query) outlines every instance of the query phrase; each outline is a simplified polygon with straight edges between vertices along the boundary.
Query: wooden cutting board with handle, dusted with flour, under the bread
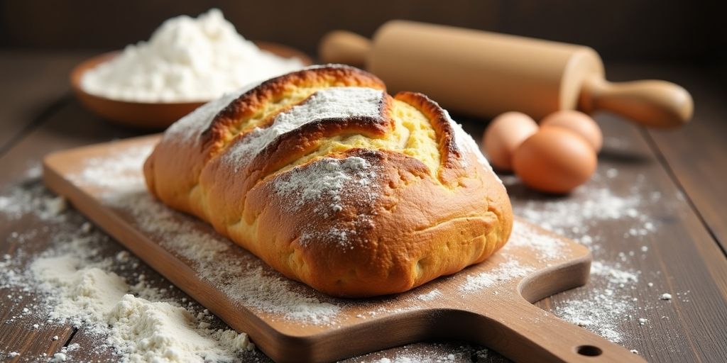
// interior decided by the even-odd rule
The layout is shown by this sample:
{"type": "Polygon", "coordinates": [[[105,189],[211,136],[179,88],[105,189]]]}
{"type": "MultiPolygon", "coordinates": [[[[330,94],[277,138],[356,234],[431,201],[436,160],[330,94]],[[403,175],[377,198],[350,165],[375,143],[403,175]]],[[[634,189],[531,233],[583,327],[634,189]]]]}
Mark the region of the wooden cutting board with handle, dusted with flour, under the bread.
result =
{"type": "Polygon", "coordinates": [[[55,152],[44,180],[143,261],[246,332],[276,362],[329,362],[430,339],[469,340],[519,362],[643,362],[531,303],[584,285],[591,255],[515,221],[489,260],[398,295],[331,298],[287,280],[207,224],[145,190],[158,136],[55,152]]]}

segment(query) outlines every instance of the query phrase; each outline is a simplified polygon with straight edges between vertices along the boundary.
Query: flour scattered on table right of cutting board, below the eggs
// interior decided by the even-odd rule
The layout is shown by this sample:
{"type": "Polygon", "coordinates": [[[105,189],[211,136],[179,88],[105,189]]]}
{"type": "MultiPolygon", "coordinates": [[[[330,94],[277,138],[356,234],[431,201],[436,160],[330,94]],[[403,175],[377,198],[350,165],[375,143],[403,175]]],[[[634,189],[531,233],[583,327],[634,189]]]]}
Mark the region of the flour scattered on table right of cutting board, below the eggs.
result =
{"type": "MultiPolygon", "coordinates": [[[[575,189],[567,198],[544,198],[524,192],[524,197],[513,197],[513,211],[541,227],[582,242],[593,252],[591,282],[574,290],[571,298],[556,301],[553,312],[608,340],[627,343],[623,326],[638,322],[640,309],[650,309],[648,303],[636,306],[641,272],[627,266],[634,258],[644,258],[649,248],[647,245],[628,247],[633,250],[617,253],[615,259],[614,256],[604,258],[601,255],[613,250],[614,243],[621,240],[630,242],[628,246],[632,246],[633,241],[648,241],[648,235],[656,232],[658,223],[646,212],[646,207],[658,201],[661,195],[659,192],[645,192],[643,176],[640,175],[635,177],[626,193],[617,194],[608,188],[606,182],[617,177],[622,176],[616,169],[601,169],[593,180],[575,189]],[[598,228],[601,233],[590,234],[592,228],[598,228]],[[606,243],[610,243],[611,248],[602,249],[601,246],[606,243]]],[[[518,185],[515,177],[503,179],[508,187],[518,185]]],[[[521,233],[515,228],[513,236],[518,234],[521,233]]],[[[510,241],[513,242],[518,244],[517,240],[510,241]]],[[[535,247],[537,243],[531,244],[539,250],[541,257],[557,254],[555,250],[547,252],[547,249],[535,247]]],[[[648,286],[652,285],[649,283],[648,286]]]]}

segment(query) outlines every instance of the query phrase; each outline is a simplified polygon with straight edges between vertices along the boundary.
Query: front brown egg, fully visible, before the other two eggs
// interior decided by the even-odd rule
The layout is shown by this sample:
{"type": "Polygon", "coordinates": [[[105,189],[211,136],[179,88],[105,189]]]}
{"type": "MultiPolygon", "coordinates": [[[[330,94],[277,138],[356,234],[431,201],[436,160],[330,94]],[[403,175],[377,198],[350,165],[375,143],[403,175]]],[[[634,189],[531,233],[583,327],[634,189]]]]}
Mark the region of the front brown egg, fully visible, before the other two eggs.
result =
{"type": "Polygon", "coordinates": [[[596,156],[588,142],[569,129],[544,127],[513,155],[515,174],[528,187],[567,193],[593,175],[596,156]]]}

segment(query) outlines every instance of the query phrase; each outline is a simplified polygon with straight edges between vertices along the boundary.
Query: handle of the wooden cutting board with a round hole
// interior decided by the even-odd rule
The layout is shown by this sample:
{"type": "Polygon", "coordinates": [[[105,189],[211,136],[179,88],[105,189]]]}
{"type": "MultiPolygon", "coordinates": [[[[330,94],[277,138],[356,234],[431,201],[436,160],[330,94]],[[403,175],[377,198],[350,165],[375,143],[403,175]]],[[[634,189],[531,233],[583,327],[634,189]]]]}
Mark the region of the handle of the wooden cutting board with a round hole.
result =
{"type": "Polygon", "coordinates": [[[470,311],[477,343],[515,362],[646,362],[622,346],[517,298],[495,311],[470,311]]]}

